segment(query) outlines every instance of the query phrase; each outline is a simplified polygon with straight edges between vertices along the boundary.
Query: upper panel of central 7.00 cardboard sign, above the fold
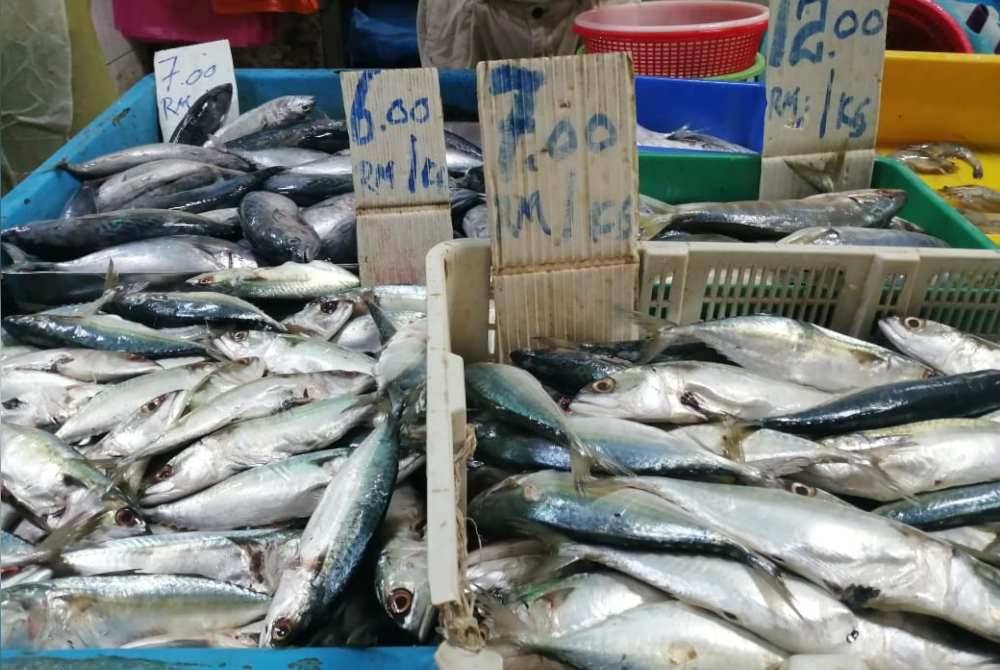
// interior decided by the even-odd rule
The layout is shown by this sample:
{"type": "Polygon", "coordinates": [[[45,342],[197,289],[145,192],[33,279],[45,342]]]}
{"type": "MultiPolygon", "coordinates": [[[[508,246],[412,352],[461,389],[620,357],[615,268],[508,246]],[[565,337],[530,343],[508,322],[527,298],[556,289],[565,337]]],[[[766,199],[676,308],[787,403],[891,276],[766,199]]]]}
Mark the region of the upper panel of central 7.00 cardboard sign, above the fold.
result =
{"type": "Polygon", "coordinates": [[[498,265],[634,252],[634,97],[605,87],[630,79],[627,61],[616,57],[480,65],[498,265]]]}

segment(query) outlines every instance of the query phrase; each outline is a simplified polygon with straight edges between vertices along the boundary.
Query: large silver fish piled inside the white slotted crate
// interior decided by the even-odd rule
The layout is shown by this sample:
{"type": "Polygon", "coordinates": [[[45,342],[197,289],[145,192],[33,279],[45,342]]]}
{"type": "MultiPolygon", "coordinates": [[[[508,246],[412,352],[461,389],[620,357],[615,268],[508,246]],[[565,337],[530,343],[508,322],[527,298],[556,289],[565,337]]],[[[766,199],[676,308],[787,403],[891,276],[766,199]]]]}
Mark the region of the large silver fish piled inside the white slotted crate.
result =
{"type": "Polygon", "coordinates": [[[879,322],[893,348],[658,323],[466,366],[489,644],[579,670],[1000,667],[1000,345],[915,317],[879,322]]]}

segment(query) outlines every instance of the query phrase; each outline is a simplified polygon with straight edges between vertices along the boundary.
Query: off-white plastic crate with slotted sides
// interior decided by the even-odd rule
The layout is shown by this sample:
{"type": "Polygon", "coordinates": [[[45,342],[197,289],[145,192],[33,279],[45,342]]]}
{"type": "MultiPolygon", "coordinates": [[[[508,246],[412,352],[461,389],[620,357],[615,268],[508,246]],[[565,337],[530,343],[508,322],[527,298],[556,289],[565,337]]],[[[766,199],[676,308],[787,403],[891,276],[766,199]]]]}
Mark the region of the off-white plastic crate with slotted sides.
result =
{"type": "MultiPolygon", "coordinates": [[[[1000,252],[773,244],[639,246],[638,308],[677,323],[771,313],[865,337],[890,314],[1000,340],[1000,252]]],[[[495,360],[488,241],[427,256],[427,541],[431,598],[453,645],[476,642],[468,595],[464,364],[495,360]]]]}

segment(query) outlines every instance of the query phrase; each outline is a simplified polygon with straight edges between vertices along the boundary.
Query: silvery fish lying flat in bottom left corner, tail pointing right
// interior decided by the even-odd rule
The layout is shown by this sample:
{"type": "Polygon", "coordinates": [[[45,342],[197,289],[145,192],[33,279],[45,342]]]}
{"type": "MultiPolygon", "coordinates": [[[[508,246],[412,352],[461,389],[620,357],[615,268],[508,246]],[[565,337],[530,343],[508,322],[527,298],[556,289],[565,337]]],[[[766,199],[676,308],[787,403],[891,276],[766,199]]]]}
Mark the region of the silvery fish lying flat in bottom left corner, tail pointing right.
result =
{"type": "Polygon", "coordinates": [[[4,649],[107,649],[243,626],[259,619],[269,601],[202,577],[65,577],[0,591],[0,626],[4,649]]]}

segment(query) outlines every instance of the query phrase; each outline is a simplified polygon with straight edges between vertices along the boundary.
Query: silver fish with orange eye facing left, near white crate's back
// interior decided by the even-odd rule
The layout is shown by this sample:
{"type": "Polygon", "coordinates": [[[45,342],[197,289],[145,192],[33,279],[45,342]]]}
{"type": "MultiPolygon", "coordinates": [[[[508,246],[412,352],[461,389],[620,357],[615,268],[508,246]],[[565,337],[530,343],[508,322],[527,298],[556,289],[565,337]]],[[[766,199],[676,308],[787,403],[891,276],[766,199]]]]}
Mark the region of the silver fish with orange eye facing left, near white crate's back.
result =
{"type": "Polygon", "coordinates": [[[809,411],[833,398],[731,365],[675,362],[628,368],[596,381],[576,395],[570,410],[585,416],[678,424],[702,423],[709,417],[754,421],[809,411]]]}

